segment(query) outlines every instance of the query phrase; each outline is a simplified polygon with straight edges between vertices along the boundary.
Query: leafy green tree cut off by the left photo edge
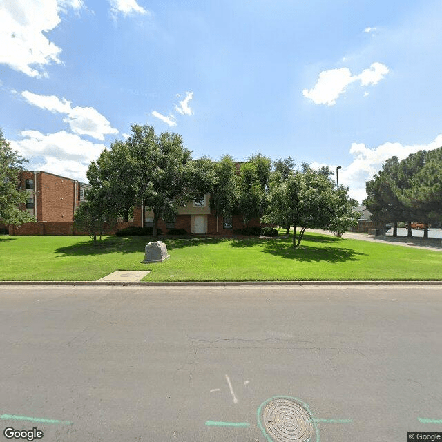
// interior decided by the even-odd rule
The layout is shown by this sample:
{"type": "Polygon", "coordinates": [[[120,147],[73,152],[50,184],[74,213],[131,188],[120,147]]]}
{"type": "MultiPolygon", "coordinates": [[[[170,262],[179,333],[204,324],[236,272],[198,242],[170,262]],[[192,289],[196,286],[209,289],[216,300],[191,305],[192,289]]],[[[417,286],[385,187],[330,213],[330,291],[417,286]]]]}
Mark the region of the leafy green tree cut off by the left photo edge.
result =
{"type": "Polygon", "coordinates": [[[23,224],[35,221],[28,212],[21,210],[28,193],[19,189],[19,173],[26,162],[3,137],[0,129],[0,223],[23,224]]]}

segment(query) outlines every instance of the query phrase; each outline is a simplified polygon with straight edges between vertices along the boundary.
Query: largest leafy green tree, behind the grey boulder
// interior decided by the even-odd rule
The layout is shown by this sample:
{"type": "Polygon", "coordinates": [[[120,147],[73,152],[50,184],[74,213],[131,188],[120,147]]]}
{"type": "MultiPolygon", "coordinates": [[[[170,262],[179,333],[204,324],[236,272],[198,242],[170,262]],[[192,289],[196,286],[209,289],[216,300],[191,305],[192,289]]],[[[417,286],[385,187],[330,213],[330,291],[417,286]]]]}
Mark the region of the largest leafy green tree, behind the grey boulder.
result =
{"type": "Polygon", "coordinates": [[[115,142],[112,151],[90,164],[88,179],[102,189],[97,198],[115,198],[107,209],[115,215],[126,218],[129,206],[144,202],[153,211],[156,236],[158,220],[173,217],[178,206],[210,191],[215,173],[209,159],[192,159],[180,135],[155,135],[153,126],[134,124],[125,142],[115,142]]]}

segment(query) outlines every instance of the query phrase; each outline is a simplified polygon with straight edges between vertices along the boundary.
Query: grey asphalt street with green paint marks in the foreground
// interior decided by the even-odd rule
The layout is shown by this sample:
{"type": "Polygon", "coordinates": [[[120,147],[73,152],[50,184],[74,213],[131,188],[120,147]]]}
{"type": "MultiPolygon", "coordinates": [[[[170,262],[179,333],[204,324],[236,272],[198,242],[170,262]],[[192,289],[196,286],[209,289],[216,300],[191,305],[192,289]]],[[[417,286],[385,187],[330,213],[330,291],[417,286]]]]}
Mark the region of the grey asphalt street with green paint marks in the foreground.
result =
{"type": "Polygon", "coordinates": [[[441,317],[442,285],[2,286],[1,440],[442,432],[441,317]]]}

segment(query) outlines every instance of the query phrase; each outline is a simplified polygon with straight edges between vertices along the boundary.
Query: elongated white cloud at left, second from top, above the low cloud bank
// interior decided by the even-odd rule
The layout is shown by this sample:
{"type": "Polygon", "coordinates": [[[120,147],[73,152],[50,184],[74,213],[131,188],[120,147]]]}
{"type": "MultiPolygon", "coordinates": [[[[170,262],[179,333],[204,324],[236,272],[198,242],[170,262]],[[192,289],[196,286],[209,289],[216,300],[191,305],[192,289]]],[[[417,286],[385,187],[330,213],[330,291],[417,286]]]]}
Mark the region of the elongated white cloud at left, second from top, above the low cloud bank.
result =
{"type": "Polygon", "coordinates": [[[37,95],[25,90],[21,95],[28,103],[38,106],[50,112],[66,113],[68,116],[63,119],[68,123],[71,131],[78,135],[89,135],[97,140],[104,140],[104,135],[118,133],[117,129],[111,127],[106,117],[95,108],[82,108],[71,106],[65,98],[59,99],[55,95],[37,95]]]}

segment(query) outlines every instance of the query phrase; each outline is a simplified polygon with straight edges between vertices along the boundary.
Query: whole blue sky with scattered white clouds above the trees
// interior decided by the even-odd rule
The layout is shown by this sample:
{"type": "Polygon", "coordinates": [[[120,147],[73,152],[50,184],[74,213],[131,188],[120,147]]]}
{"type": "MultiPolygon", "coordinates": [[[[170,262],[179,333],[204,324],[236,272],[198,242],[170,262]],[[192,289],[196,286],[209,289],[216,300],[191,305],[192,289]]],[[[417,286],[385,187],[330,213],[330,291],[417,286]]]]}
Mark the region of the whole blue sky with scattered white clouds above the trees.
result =
{"type": "Polygon", "coordinates": [[[0,127],[30,162],[86,181],[132,124],[193,157],[261,152],[365,182],[442,146],[442,3],[0,0],[0,127]]]}

